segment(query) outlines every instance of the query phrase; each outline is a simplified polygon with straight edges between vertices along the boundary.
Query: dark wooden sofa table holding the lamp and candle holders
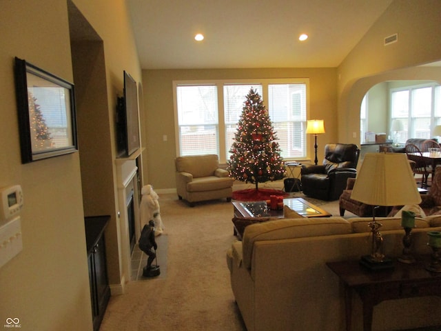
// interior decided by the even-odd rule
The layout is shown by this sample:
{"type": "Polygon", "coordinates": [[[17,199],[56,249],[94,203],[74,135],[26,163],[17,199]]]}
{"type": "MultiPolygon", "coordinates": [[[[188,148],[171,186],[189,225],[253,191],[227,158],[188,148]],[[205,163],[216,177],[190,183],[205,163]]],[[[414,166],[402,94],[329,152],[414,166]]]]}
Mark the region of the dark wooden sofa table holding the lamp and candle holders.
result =
{"type": "Polygon", "coordinates": [[[345,288],[346,330],[351,330],[351,295],[355,290],[363,305],[363,330],[372,328],[373,306],[381,301],[410,297],[441,297],[441,274],[425,269],[430,257],[418,257],[413,264],[394,262],[392,270],[372,272],[359,261],[329,262],[345,288]]]}

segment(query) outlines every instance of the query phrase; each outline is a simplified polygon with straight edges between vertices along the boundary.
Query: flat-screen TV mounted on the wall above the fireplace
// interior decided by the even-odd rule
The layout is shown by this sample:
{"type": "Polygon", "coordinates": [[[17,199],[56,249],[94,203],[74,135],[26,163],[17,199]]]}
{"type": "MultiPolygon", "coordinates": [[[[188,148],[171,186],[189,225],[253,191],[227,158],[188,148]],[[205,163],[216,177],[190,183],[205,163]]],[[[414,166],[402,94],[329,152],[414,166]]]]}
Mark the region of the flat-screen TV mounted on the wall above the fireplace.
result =
{"type": "Polygon", "coordinates": [[[138,88],[124,71],[124,97],[116,104],[116,146],[118,157],[129,157],[139,149],[138,88]]]}

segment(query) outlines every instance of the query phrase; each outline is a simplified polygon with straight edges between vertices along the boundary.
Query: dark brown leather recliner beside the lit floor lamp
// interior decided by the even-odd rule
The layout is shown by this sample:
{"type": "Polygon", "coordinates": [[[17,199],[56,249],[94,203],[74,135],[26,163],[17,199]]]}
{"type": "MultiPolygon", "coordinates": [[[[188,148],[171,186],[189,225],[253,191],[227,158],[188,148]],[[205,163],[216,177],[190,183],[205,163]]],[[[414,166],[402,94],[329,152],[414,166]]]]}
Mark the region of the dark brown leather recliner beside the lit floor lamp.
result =
{"type": "Polygon", "coordinates": [[[309,197],[338,200],[348,178],[356,177],[360,148],[353,143],[329,143],[322,165],[302,165],[303,193],[309,197]]]}

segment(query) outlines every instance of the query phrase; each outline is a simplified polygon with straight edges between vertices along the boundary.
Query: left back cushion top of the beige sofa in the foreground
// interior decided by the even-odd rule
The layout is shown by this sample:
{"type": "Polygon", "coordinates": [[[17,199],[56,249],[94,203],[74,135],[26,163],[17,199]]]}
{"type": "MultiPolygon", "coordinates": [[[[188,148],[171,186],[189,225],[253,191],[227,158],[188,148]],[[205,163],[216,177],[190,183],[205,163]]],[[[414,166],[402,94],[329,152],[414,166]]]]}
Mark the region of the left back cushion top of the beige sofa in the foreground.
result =
{"type": "Polygon", "coordinates": [[[302,219],[278,219],[264,223],[254,223],[247,226],[243,234],[243,263],[245,268],[251,268],[255,241],[349,233],[351,233],[351,225],[342,217],[304,217],[302,219]]]}

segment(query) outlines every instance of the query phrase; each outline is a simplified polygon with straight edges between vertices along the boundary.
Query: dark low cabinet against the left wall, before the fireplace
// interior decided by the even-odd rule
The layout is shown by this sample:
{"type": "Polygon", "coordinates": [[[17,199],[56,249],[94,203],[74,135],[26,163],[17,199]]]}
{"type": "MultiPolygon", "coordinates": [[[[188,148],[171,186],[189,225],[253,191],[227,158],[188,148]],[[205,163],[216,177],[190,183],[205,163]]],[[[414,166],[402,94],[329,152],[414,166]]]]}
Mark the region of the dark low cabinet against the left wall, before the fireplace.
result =
{"type": "Polygon", "coordinates": [[[109,219],[109,216],[85,217],[84,219],[94,331],[99,330],[105,308],[110,299],[104,237],[104,230],[109,219]]]}

